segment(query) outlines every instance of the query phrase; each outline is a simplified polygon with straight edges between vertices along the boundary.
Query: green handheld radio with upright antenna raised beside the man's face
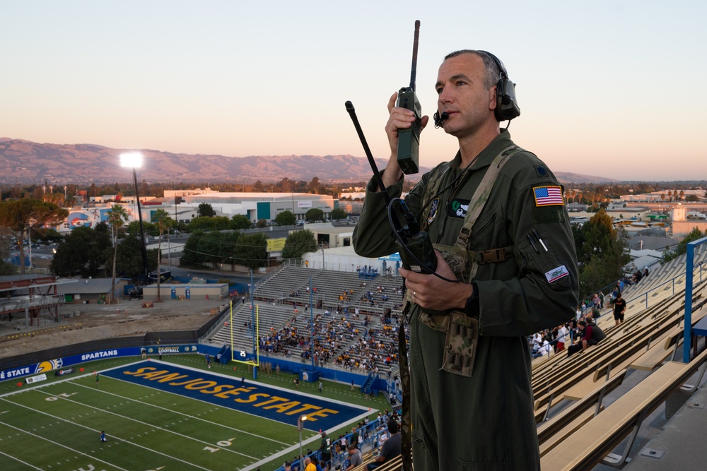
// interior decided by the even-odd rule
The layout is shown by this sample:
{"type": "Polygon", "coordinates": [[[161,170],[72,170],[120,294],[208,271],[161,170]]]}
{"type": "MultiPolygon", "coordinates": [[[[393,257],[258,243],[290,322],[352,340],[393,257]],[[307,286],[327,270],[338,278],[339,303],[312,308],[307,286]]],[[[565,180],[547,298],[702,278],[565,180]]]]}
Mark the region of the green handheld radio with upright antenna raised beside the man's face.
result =
{"type": "Polygon", "coordinates": [[[408,129],[398,131],[397,162],[406,175],[419,172],[420,131],[422,130],[422,107],[415,94],[417,75],[417,46],[420,40],[420,20],[415,21],[415,39],[412,44],[412,69],[410,86],[398,92],[397,107],[409,109],[415,113],[415,122],[408,129]]]}

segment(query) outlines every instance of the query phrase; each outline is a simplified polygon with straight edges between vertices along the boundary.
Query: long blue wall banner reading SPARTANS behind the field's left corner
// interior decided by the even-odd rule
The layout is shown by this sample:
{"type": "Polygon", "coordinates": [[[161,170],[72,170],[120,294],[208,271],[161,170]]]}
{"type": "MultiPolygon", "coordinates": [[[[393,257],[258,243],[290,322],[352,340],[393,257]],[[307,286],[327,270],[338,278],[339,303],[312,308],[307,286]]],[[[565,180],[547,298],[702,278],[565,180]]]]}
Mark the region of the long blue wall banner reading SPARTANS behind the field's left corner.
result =
{"type": "MultiPolygon", "coordinates": [[[[66,369],[66,366],[71,366],[75,364],[81,364],[84,362],[91,362],[93,360],[106,359],[106,358],[117,358],[117,357],[137,357],[141,354],[141,350],[146,350],[148,354],[174,354],[174,353],[196,353],[197,345],[150,345],[149,347],[124,347],[124,348],[112,348],[107,350],[94,350],[93,352],[86,352],[76,355],[71,355],[69,357],[57,358],[52,360],[45,360],[44,362],[34,363],[27,366],[20,366],[18,368],[4,369],[0,371],[0,381],[11,378],[21,378],[22,376],[29,376],[30,374],[42,374],[48,373],[55,369],[66,369]]],[[[68,369],[64,374],[69,373],[68,369]]],[[[60,375],[61,376],[61,375],[60,375]]]]}

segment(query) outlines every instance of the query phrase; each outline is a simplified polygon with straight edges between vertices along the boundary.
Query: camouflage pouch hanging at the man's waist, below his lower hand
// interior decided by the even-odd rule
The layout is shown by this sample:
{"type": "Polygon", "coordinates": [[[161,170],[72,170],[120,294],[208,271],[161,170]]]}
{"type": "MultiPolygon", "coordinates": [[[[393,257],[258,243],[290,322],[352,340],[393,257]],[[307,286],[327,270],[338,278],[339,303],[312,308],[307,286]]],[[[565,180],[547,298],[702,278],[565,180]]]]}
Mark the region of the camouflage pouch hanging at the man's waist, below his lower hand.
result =
{"type": "Polygon", "coordinates": [[[479,320],[462,311],[451,311],[442,369],[461,376],[472,376],[479,343],[479,320]]]}

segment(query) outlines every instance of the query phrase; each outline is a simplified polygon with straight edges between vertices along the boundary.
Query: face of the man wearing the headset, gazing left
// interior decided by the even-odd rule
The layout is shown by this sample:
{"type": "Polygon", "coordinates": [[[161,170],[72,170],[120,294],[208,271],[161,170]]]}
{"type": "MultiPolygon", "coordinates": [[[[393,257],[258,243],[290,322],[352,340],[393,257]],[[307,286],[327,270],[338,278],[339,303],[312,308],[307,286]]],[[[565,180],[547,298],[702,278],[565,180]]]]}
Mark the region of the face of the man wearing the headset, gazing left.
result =
{"type": "Polygon", "coordinates": [[[449,114],[442,125],[446,133],[462,138],[496,121],[496,85],[486,90],[484,75],[484,61],[477,54],[460,54],[440,66],[435,89],[440,113],[449,114]]]}

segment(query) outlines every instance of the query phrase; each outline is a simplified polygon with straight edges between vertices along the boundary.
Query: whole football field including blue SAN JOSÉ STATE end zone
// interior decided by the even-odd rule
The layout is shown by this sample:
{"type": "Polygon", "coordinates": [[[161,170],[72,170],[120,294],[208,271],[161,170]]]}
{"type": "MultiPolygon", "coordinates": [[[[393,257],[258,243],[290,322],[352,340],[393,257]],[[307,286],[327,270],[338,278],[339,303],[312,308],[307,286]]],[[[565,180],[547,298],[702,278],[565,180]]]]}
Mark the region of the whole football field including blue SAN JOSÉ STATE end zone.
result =
{"type": "Polygon", "coordinates": [[[302,439],[366,407],[167,362],[135,362],[0,396],[10,470],[243,470],[297,455],[302,439]],[[98,378],[97,378],[98,376],[98,378]],[[105,431],[107,441],[100,441],[105,431]]]}

